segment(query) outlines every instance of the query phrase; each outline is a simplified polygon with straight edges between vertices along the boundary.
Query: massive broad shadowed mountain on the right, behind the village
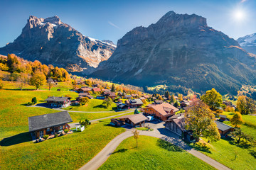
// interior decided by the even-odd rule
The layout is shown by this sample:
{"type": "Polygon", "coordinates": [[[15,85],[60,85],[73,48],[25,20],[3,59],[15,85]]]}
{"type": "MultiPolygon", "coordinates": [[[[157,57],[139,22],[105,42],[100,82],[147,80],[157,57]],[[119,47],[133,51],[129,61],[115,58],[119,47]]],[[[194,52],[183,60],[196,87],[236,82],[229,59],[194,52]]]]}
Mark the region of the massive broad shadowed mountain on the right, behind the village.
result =
{"type": "Polygon", "coordinates": [[[169,11],[149,27],[125,34],[91,76],[236,94],[242,84],[255,84],[255,61],[237,41],[208,27],[206,18],[169,11]]]}

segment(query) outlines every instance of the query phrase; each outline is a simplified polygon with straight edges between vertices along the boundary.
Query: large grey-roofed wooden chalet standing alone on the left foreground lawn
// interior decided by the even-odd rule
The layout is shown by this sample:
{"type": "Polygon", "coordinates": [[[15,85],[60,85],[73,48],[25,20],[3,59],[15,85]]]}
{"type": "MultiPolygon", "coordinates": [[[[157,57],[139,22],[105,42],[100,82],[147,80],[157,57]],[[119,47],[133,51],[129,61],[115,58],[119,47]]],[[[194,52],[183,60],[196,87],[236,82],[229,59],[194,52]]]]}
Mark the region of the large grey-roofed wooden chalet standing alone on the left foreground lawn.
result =
{"type": "Polygon", "coordinates": [[[68,123],[73,122],[68,111],[50,113],[46,115],[36,115],[28,117],[28,128],[32,138],[43,137],[43,135],[53,135],[56,132],[63,132],[69,129],[68,123]]]}

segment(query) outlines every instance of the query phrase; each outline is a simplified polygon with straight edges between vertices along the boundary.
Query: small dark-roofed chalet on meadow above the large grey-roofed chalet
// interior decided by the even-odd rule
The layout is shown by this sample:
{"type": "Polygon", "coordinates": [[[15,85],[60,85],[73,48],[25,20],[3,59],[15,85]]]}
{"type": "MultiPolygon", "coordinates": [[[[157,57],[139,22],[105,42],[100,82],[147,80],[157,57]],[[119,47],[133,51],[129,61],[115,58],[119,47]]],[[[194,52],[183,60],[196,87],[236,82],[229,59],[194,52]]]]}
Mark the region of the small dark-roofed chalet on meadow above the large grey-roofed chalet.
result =
{"type": "Polygon", "coordinates": [[[51,106],[51,107],[67,107],[67,106],[70,106],[70,98],[69,97],[55,97],[55,96],[52,96],[52,97],[48,97],[46,98],[45,100],[47,102],[47,105],[48,106],[51,106]]]}

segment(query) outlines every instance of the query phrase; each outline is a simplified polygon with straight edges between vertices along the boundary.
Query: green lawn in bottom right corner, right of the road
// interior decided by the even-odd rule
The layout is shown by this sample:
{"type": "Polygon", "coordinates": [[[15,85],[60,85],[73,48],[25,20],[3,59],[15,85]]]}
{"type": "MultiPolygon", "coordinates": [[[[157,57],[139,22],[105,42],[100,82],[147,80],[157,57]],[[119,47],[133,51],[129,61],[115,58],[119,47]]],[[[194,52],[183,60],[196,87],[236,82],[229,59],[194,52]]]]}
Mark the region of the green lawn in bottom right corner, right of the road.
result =
{"type": "MultiPolygon", "coordinates": [[[[206,140],[208,141],[208,140],[206,140]]],[[[207,143],[209,152],[202,152],[208,157],[228,166],[230,169],[255,169],[256,159],[250,152],[256,149],[242,149],[236,145],[231,145],[228,140],[220,139],[218,142],[207,143]]],[[[191,144],[192,146],[193,144],[191,144]]]]}

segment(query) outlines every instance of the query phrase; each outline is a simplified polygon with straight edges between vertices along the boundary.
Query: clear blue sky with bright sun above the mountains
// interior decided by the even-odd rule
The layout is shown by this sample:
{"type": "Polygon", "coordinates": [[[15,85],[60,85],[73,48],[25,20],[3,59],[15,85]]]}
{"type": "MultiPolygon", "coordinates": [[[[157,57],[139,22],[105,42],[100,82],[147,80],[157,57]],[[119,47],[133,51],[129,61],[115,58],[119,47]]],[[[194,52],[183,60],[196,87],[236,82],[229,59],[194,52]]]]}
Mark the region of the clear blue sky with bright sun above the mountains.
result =
{"type": "Polygon", "coordinates": [[[256,33],[255,0],[23,0],[0,1],[0,47],[21,34],[29,16],[59,16],[83,35],[115,44],[129,30],[147,27],[168,11],[197,14],[230,38],[256,33]]]}

